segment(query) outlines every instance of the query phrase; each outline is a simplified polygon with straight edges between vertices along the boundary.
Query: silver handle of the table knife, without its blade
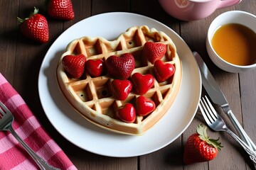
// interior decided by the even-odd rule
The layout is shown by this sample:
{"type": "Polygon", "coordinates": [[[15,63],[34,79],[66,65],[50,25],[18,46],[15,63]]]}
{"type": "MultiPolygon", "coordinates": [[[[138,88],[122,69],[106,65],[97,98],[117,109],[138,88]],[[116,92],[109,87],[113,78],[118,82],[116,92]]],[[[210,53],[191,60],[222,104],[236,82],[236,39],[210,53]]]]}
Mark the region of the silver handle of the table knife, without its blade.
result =
{"type": "Polygon", "coordinates": [[[228,118],[230,119],[231,123],[234,125],[235,130],[237,130],[238,134],[240,135],[241,139],[245,141],[245,143],[251,147],[253,150],[256,150],[256,146],[254,142],[250,139],[250,137],[247,135],[245,130],[243,130],[242,126],[238,122],[237,118],[235,118],[235,115],[233,112],[230,110],[230,108],[224,108],[223,111],[228,115],[228,118]]]}

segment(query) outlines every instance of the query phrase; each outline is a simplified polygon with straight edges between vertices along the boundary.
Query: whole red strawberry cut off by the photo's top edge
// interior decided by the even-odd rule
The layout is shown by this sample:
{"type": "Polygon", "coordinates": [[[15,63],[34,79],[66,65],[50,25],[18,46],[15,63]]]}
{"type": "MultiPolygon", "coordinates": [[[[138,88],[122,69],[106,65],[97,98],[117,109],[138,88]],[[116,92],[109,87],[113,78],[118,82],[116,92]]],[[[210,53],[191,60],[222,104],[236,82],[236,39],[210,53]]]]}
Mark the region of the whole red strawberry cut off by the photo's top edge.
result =
{"type": "Polygon", "coordinates": [[[55,19],[72,20],[75,17],[71,0],[49,0],[48,15],[55,19]]]}

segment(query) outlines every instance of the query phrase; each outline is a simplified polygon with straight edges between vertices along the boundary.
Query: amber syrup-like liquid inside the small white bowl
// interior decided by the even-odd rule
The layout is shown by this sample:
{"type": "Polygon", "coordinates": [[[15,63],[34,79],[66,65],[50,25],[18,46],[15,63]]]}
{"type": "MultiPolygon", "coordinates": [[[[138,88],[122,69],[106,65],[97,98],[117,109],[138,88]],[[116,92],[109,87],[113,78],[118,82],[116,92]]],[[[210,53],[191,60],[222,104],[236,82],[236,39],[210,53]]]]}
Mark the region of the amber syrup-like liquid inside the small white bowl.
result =
{"type": "Polygon", "coordinates": [[[238,23],[218,28],[211,40],[215,52],[223,60],[246,66],[256,62],[256,33],[238,23]]]}

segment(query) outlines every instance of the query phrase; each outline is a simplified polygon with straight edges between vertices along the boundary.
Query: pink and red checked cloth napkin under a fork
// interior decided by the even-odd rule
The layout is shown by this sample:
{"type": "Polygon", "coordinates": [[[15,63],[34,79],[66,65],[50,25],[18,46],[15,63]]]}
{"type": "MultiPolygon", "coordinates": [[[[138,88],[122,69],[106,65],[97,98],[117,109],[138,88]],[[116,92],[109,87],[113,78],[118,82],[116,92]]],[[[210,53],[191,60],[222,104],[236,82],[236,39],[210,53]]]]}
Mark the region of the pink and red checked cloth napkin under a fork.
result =
{"type": "MultiPolygon", "coordinates": [[[[76,169],[62,149],[50,138],[21,96],[0,73],[0,101],[14,114],[16,133],[49,164],[76,169]]],[[[39,169],[10,132],[0,131],[0,169],[39,169]]]]}

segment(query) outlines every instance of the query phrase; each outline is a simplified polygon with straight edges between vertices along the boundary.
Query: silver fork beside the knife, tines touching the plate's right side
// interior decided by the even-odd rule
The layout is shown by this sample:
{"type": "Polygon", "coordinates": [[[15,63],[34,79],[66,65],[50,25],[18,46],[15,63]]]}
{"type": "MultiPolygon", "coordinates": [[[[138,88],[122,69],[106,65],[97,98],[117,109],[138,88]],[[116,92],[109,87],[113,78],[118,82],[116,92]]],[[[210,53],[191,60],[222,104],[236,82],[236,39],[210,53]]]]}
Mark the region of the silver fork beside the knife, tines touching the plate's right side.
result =
{"type": "Polygon", "coordinates": [[[254,150],[252,150],[245,142],[240,139],[240,137],[238,137],[238,135],[235,135],[235,133],[227,127],[223,118],[221,118],[220,115],[218,115],[218,113],[215,111],[215,108],[213,108],[213,105],[210,103],[207,96],[205,96],[205,98],[201,98],[199,108],[203,118],[206,120],[206,123],[212,130],[227,132],[243,147],[243,149],[245,149],[247,154],[250,155],[252,162],[256,163],[256,153],[254,150]]]}

